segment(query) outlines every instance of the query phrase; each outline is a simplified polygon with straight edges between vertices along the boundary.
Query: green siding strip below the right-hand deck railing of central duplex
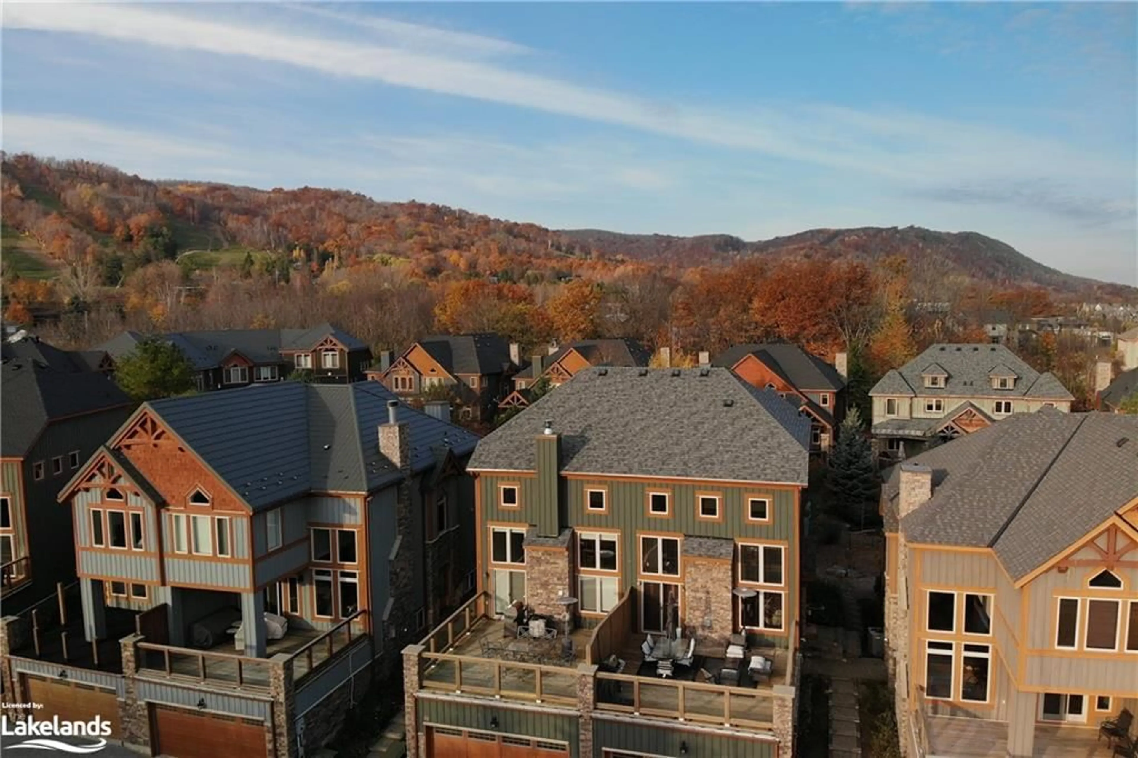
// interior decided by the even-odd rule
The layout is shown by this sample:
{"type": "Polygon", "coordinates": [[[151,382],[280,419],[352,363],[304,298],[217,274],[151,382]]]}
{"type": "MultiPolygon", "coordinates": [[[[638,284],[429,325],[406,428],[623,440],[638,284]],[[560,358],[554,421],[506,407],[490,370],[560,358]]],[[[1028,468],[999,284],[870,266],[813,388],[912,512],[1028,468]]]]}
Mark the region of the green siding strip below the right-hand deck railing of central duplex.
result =
{"type": "Polygon", "coordinates": [[[681,724],[651,724],[593,719],[593,758],[602,758],[604,749],[628,750],[650,756],[678,756],[681,743],[687,743],[687,758],[775,758],[773,741],[733,739],[710,732],[683,731],[681,724]]]}

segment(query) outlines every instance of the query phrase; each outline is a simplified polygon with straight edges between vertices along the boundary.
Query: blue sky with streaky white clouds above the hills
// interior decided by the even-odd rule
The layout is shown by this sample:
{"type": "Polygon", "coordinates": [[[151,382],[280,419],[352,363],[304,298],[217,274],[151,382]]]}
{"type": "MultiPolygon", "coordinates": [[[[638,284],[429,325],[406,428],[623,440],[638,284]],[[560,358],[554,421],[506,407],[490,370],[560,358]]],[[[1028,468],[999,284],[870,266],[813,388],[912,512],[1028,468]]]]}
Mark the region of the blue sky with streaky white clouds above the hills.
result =
{"type": "Polygon", "coordinates": [[[5,3],[5,150],[1138,285],[1135,3],[5,3]]]}

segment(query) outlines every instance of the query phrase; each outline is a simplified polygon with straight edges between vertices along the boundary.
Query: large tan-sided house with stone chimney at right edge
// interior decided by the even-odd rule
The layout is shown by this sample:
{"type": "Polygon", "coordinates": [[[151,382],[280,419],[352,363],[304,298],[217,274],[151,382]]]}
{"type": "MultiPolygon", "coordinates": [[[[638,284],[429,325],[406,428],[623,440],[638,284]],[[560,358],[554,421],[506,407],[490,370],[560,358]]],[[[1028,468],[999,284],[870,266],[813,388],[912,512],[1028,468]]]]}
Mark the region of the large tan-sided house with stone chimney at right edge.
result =
{"type": "Polygon", "coordinates": [[[1016,415],[893,467],[882,514],[905,755],[1133,755],[1138,418],[1016,415]]]}

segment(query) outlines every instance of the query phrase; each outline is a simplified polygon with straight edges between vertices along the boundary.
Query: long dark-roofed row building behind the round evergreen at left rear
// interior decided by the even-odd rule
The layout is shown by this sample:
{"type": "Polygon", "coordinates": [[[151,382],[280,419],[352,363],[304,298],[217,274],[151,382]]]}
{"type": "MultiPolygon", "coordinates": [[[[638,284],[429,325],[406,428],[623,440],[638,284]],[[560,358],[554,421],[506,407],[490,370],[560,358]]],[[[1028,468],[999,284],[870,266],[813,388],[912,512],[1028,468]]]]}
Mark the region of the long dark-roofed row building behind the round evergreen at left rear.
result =
{"type": "MultiPolygon", "coordinates": [[[[303,371],[318,384],[362,381],[371,349],[329,323],[312,329],[223,329],[160,335],[193,364],[199,392],[280,381],[303,371]]],[[[117,360],[147,337],[124,331],[98,349],[117,360]]]]}

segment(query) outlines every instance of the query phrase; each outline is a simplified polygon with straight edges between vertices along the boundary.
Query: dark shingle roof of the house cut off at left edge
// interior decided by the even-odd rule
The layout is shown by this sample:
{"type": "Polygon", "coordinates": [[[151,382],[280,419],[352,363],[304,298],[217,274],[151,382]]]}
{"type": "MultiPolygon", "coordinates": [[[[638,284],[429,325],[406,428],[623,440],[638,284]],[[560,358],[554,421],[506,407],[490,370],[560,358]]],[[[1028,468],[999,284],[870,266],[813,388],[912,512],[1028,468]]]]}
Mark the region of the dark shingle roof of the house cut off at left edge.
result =
{"type": "Polygon", "coordinates": [[[56,371],[27,359],[0,365],[0,455],[19,458],[48,422],[131,404],[105,374],[56,371]]]}

